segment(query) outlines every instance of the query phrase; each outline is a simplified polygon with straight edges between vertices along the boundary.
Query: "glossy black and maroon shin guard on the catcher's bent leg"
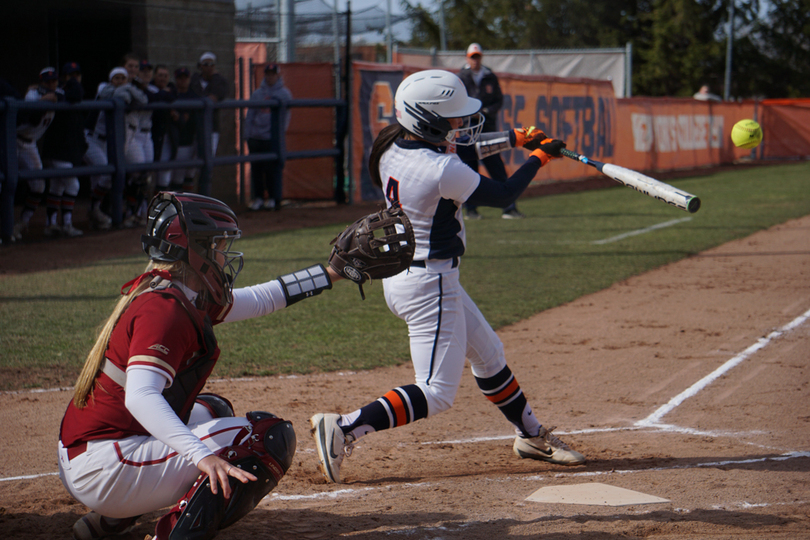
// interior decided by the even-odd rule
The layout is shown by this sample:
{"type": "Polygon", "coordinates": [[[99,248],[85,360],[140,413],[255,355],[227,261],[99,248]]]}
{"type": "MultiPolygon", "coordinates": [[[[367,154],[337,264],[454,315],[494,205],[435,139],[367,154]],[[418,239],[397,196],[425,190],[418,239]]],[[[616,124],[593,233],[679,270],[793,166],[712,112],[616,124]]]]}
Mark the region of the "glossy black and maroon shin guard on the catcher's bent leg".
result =
{"type": "Polygon", "coordinates": [[[243,484],[230,479],[231,498],[222,490],[211,493],[211,480],[201,474],[191,489],[155,527],[156,540],[208,540],[242,519],[270,493],[292,465],[295,455],[295,431],[292,422],[270,413],[247,414],[250,427],[234,438],[234,446],[218,452],[222,459],[254,476],[255,482],[243,484]]]}

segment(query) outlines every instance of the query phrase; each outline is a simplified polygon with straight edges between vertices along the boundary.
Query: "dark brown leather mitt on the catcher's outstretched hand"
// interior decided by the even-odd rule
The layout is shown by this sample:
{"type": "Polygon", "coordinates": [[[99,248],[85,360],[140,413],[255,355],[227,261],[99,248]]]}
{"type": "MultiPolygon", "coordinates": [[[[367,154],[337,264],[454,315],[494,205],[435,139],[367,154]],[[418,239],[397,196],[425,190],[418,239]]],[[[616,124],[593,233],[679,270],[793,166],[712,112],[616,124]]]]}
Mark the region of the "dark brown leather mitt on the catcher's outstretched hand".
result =
{"type": "Polygon", "coordinates": [[[360,286],[373,279],[395,276],[413,262],[413,227],[401,208],[386,208],[358,219],[331,244],[329,266],[360,286]],[[376,234],[376,236],[375,236],[376,234]]]}

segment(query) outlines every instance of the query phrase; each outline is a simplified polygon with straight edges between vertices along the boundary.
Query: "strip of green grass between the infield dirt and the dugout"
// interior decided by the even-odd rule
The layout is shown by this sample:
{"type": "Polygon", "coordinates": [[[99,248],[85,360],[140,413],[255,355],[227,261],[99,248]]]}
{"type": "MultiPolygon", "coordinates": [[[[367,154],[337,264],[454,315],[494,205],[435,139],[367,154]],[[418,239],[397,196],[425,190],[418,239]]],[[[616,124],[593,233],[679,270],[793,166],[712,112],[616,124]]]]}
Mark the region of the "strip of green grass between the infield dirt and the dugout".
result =
{"type": "MultiPolygon", "coordinates": [[[[687,214],[628,188],[521,200],[524,220],[467,222],[462,282],[493,327],[608,287],[757,230],[810,214],[810,164],[774,165],[672,181],[703,206],[687,214]],[[593,244],[666,221],[673,226],[593,244]]],[[[240,241],[240,286],[325,262],[342,226],[256,235],[240,241]]],[[[0,280],[0,390],[71,385],[118,291],[145,258],[0,280]]],[[[268,317],[221,325],[215,375],[256,376],[369,369],[408,359],[407,329],[382,285],[332,291],[268,317]]]]}

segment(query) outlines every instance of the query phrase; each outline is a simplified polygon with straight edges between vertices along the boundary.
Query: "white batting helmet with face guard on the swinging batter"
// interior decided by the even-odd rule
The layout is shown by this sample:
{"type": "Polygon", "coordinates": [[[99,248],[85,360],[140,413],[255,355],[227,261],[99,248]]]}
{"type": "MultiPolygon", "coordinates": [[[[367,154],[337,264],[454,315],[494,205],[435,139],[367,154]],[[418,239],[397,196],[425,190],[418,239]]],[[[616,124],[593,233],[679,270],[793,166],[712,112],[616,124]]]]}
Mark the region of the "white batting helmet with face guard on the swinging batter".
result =
{"type": "Polygon", "coordinates": [[[397,122],[410,133],[438,144],[456,141],[471,145],[478,140],[484,117],[481,102],[467,95],[456,75],[441,69],[420,71],[407,77],[394,97],[397,122]],[[475,115],[474,118],[471,118],[475,115]],[[453,129],[448,118],[463,118],[465,123],[453,129]],[[467,137],[463,137],[467,135],[467,137]],[[456,140],[456,137],[462,137],[456,140]]]}

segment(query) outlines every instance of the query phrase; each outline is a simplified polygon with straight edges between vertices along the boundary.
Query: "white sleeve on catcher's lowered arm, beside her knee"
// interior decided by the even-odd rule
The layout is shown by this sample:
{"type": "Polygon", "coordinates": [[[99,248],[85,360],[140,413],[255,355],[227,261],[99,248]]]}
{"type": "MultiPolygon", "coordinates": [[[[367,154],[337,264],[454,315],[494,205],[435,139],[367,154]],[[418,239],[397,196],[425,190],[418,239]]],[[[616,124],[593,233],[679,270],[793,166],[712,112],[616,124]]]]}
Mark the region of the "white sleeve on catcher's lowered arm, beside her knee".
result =
{"type": "Polygon", "coordinates": [[[141,366],[127,369],[125,404],[146,431],[196,466],[213,452],[191,432],[163,398],[163,389],[170,382],[165,374],[158,371],[141,366]]]}

